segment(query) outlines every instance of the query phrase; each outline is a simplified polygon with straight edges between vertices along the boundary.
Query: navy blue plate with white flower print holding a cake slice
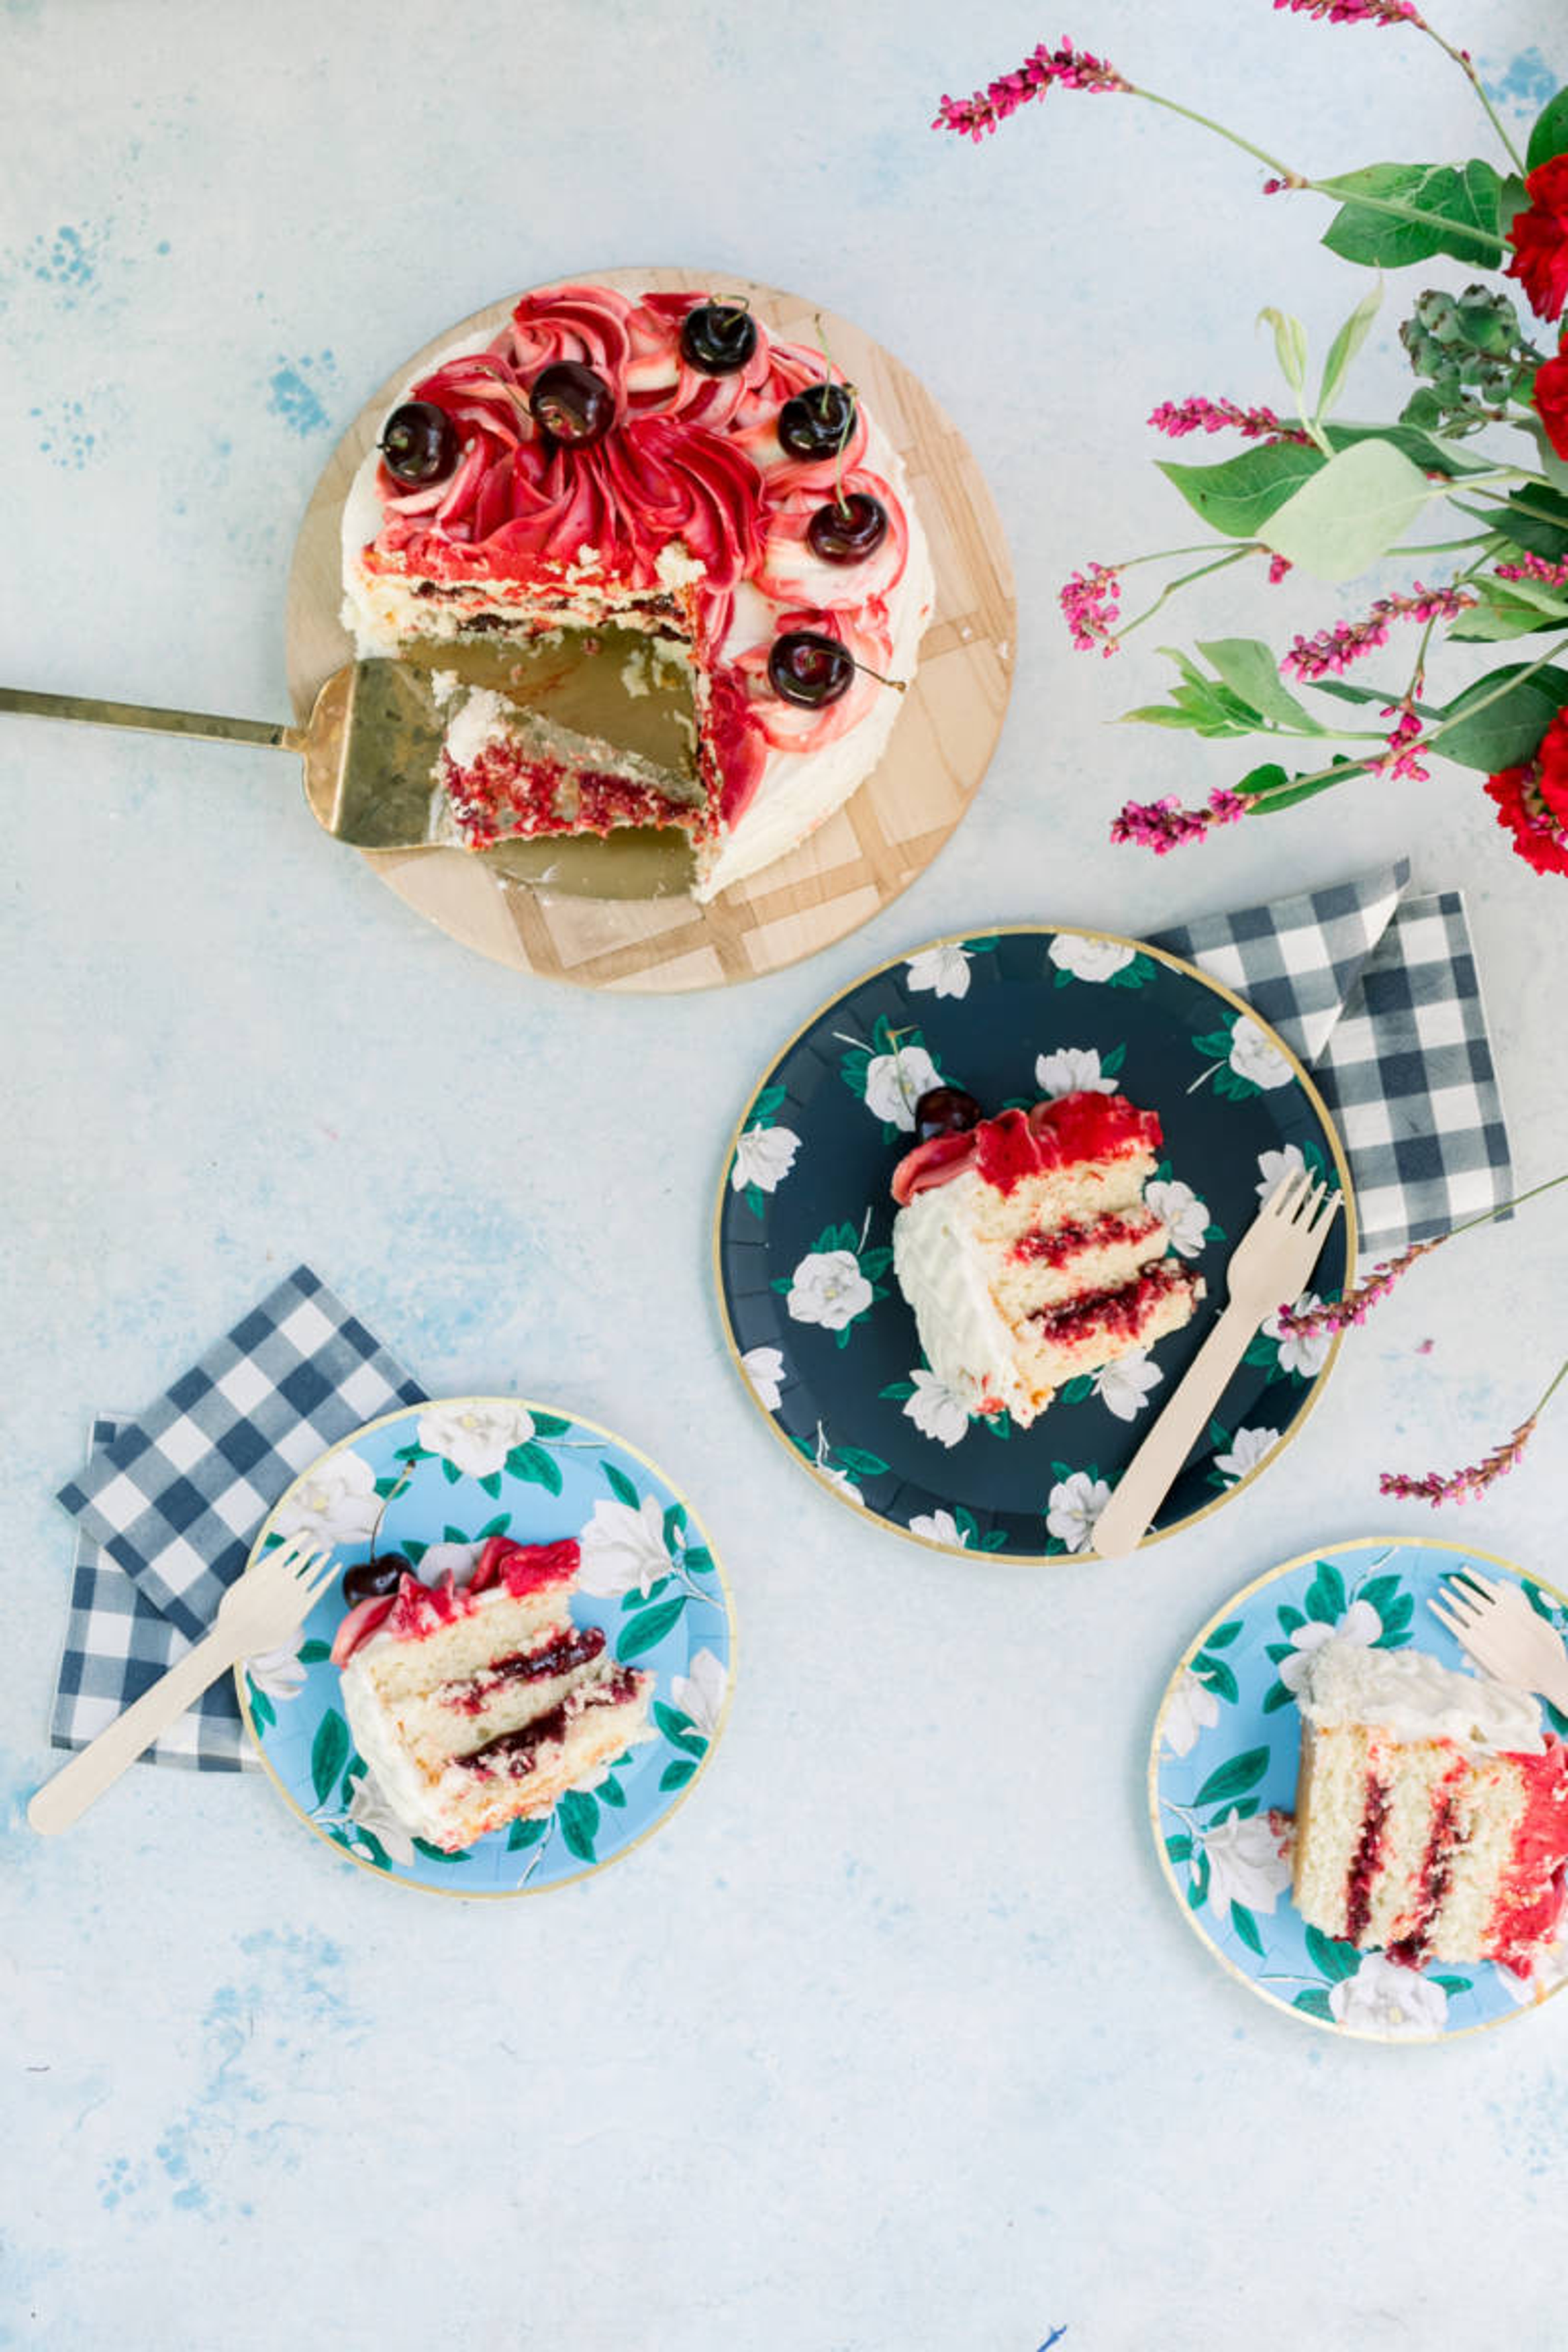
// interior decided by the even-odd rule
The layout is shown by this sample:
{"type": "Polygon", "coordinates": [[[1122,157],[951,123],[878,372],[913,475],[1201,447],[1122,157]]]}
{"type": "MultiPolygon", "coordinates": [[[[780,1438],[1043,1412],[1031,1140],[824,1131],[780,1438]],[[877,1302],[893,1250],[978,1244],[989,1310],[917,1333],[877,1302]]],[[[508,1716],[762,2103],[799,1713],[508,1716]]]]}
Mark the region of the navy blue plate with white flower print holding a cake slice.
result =
{"type": "MultiPolygon", "coordinates": [[[[1309,1296],[1354,1263],[1340,1138],[1284,1040],[1194,964],[1107,931],[938,938],[825,1004],[741,1112],[715,1214],[731,1350],[771,1428],[846,1503],[950,1552],[1084,1552],[1147,1416],[1225,1305],[1225,1261],[1279,1178],[1335,1181],[1309,1296]],[[1150,1202],[1208,1296],[1185,1331],[1070,1381],[1032,1430],[933,1378],[893,1282],[889,1181],[914,1103],[966,1087],[987,1110],[1095,1087],[1157,1110],[1150,1202]]],[[[1246,1486],[1295,1435],[1338,1338],[1253,1338],[1145,1543],[1246,1486]]]]}

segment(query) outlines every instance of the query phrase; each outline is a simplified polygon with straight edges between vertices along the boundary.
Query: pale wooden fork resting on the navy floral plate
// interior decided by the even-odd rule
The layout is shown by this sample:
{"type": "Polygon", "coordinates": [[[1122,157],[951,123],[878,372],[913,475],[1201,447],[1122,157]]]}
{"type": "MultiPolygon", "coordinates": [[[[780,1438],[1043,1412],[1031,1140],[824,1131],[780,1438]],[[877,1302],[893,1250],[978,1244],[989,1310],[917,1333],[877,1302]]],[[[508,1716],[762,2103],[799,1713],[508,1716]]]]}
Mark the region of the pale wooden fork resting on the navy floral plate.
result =
{"type": "Polygon", "coordinates": [[[1338,1209],[1340,1195],[1314,1183],[1305,1169],[1274,1185],[1232,1251],[1225,1312],[1171,1390],[1095,1522],[1091,1548],[1100,1559],[1119,1559],[1140,1543],[1253,1334],[1281,1298],[1300,1298],[1305,1291],[1338,1209]]]}

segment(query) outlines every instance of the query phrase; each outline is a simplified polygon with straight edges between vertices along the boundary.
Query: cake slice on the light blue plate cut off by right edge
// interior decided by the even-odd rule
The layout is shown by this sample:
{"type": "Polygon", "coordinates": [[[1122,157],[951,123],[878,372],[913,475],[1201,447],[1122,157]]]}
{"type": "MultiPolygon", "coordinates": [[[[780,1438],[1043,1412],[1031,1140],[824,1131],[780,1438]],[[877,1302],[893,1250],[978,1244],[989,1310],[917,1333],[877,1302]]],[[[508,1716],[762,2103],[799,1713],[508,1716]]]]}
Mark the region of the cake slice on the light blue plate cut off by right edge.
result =
{"type": "Polygon", "coordinates": [[[1356,1950],[1519,1976],[1568,1884],[1568,1748],[1528,1691],[1345,1637],[1300,1689],[1295,1907],[1356,1950]]]}

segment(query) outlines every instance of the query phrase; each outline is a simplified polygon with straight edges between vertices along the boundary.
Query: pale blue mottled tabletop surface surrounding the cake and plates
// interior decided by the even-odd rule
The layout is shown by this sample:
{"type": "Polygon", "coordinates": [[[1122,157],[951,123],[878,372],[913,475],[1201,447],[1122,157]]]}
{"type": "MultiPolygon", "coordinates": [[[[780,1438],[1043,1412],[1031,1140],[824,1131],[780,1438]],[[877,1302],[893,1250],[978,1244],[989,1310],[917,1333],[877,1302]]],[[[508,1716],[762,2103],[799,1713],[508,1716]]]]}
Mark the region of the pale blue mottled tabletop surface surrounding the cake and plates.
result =
{"type": "MultiPolygon", "coordinates": [[[[1519,122],[1554,38],[1568,71],[1554,0],[1441,21],[1519,122]]],[[[1023,600],[1006,736],[938,866],[813,964],[686,1002],[449,946],[320,840],[284,762],[0,731],[14,1797],[52,1762],[49,1494],[89,1411],[296,1258],[430,1388],[555,1395],[656,1454],[726,1557],[743,1665],[668,1835],[517,1907],[334,1870],[256,1780],[139,1771],[59,1844],[12,1806],[5,2345],[1563,2343],[1568,1999],[1441,2051],[1293,2027],[1175,1917],[1143,1806],[1208,1609],[1319,1538],[1429,1531],[1378,1468],[1474,1458],[1544,1385],[1552,1218],[1422,1268],[1260,1486],[1119,1569],[858,1526],[745,1406],[708,1298],[729,1122],[860,967],[997,920],[1150,929],[1403,849],[1469,887],[1521,1176],[1568,1162],[1568,898],[1474,779],[1356,786],[1180,861],[1105,842],[1128,790],[1237,762],[1110,731],[1164,670],[1147,640],[1072,656],[1056,586],[1190,539],[1150,407],[1276,397],[1258,308],[1321,348],[1363,280],[1319,252],[1316,200],[1260,202],[1152,111],[1051,99],[985,153],[926,132],[1060,31],[1025,0],[0,9],[7,677],[282,715],[294,529],[367,386],[510,287],[642,259],[811,289],[891,343],[964,423],[1023,600]]],[[[1316,169],[1486,141],[1403,33],[1265,0],[1086,0],[1067,31],[1316,169]]],[[[1352,405],[1399,388],[1382,327],[1352,405]]],[[[1291,583],[1260,614],[1251,583],[1171,635],[1361,597],[1291,583]]],[[[1446,1531],[1561,1576],[1566,1430],[1446,1531]]]]}

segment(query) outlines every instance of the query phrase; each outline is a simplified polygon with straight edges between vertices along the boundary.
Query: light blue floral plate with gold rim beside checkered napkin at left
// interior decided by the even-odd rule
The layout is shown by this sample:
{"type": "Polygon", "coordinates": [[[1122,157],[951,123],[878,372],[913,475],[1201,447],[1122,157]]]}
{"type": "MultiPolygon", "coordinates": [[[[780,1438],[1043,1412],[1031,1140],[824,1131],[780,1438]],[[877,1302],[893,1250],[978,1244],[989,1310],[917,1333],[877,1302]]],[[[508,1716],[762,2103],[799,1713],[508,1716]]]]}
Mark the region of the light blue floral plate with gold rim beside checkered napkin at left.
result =
{"type": "Polygon", "coordinates": [[[355,1755],[329,1661],[346,1616],[341,1578],[301,1630],[235,1670],[261,1762],[317,1837],[404,1886],[517,1896],[564,1886],[630,1853],[686,1797],[724,1729],[736,1632],[724,1573],[670,1479],[592,1421],[520,1397],[451,1397],[371,1421],[303,1470],[256,1550],[292,1534],[334,1545],[339,1569],[402,1552],[458,1583],[491,1536],[583,1545],[576,1625],[602,1625],[607,1656],[656,1675],[654,1738],[592,1790],[541,1820],[491,1830],[465,1853],[409,1837],[355,1755]]]}

